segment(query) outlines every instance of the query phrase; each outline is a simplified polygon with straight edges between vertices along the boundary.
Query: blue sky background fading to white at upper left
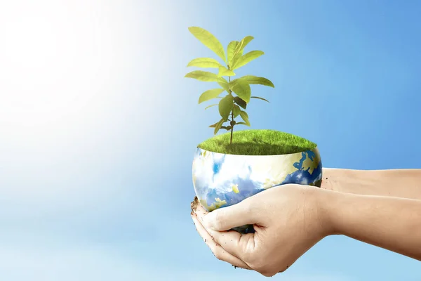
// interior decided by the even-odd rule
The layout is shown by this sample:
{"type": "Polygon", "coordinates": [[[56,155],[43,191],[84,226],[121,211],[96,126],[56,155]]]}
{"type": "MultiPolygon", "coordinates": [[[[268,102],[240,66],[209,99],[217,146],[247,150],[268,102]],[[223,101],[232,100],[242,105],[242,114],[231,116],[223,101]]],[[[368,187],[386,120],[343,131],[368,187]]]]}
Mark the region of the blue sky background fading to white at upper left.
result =
{"type": "MultiPolygon", "coordinates": [[[[187,27],[265,55],[239,71],[252,129],[319,144],[323,166],[420,168],[419,1],[1,1],[0,280],[264,280],[218,261],[189,217],[212,136],[213,56],[187,27]]],[[[399,188],[399,186],[396,186],[399,188]]],[[[405,239],[405,237],[402,237],[405,239]]],[[[274,280],[421,280],[420,263],[328,237],[274,280]]]]}

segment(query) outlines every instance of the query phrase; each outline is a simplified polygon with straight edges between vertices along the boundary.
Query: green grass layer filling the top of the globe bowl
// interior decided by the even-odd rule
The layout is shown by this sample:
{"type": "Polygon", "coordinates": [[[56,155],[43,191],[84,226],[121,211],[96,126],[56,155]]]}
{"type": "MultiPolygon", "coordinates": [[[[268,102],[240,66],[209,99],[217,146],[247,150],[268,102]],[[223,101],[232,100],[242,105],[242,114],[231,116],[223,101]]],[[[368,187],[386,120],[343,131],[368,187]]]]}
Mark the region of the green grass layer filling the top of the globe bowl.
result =
{"type": "Polygon", "coordinates": [[[273,130],[234,131],[213,136],[197,147],[233,155],[286,155],[316,148],[316,143],[290,133],[273,130]]]}

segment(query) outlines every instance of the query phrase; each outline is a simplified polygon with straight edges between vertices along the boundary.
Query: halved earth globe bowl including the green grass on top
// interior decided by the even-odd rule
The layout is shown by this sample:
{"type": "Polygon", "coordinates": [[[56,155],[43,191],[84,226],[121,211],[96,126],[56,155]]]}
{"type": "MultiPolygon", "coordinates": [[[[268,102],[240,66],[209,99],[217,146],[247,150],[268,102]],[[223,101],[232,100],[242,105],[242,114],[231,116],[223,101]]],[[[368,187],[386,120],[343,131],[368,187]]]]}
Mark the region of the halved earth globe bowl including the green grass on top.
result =
{"type": "MultiPolygon", "coordinates": [[[[206,210],[228,207],[287,183],[321,186],[321,157],[316,144],[288,133],[247,130],[234,133],[230,146],[229,135],[202,143],[194,153],[194,191],[206,210]],[[270,141],[265,140],[268,137],[270,141]],[[238,141],[234,142],[235,138],[238,141]]],[[[254,231],[253,226],[234,230],[254,231]]]]}

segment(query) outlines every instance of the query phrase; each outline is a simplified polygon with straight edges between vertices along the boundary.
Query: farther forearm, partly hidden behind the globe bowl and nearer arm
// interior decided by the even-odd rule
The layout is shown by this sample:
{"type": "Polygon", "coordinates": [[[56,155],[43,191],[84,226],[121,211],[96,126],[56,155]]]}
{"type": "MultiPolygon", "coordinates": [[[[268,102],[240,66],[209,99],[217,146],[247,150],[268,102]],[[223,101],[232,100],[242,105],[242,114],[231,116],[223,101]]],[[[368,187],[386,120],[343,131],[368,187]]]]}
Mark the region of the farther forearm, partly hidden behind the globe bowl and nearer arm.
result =
{"type": "Polygon", "coordinates": [[[323,169],[321,188],[421,200],[421,169],[323,169]]]}

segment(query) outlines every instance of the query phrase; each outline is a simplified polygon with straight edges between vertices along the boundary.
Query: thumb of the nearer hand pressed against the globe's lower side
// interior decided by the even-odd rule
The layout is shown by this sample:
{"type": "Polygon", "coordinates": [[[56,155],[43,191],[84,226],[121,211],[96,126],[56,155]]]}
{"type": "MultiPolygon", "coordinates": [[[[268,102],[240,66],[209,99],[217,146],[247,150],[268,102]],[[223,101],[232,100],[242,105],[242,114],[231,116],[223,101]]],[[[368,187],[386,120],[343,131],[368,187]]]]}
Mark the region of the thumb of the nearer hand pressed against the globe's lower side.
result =
{"type": "Polygon", "coordinates": [[[239,202],[211,211],[203,217],[203,226],[217,231],[229,230],[246,224],[258,223],[249,204],[239,202]]]}

